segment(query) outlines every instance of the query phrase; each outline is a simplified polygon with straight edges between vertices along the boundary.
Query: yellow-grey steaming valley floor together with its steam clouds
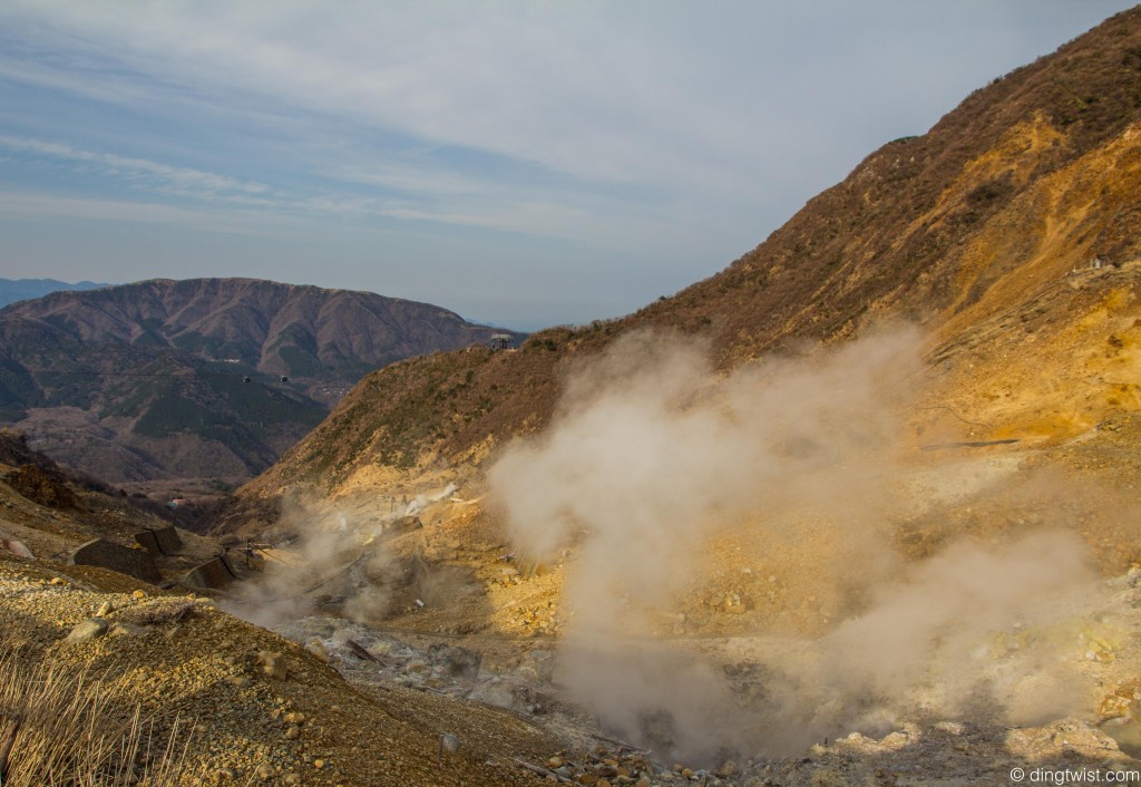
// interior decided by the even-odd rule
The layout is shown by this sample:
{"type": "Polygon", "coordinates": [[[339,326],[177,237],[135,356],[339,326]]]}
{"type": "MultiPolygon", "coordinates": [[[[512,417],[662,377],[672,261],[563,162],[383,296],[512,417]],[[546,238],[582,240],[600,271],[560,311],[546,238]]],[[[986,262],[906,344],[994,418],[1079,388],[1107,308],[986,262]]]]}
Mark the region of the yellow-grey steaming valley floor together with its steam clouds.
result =
{"type": "Polygon", "coordinates": [[[268,561],[230,609],[564,739],[597,720],[658,762],[755,773],[915,724],[1132,729],[1104,704],[1141,658],[1102,579],[1134,554],[1130,493],[920,435],[921,345],[899,329],[719,375],[699,343],[630,336],[503,451],[487,511],[446,473],[299,506],[283,531],[305,536],[272,553],[296,567],[268,561]],[[451,674],[476,656],[443,644],[478,666],[451,674]]]}

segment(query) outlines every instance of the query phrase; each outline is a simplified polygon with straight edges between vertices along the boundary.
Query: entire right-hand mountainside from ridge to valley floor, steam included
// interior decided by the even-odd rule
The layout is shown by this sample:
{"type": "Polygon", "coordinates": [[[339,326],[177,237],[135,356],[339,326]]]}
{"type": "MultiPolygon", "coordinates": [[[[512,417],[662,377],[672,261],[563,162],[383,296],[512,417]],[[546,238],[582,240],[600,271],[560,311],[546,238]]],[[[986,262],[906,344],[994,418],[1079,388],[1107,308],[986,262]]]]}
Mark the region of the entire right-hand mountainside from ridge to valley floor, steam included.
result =
{"type": "Polygon", "coordinates": [[[1141,752],[1116,672],[1141,655],[1116,595],[1141,564],[1139,56],[1141,8],[672,298],[367,376],[218,530],[377,549],[314,607],[534,647],[655,756],[810,769],[759,781],[827,778],[828,740],[890,773],[847,746],[892,725],[945,781],[932,718],[976,762],[963,733],[996,722],[1006,747],[1083,720],[1141,752]],[[420,595],[378,593],[405,560],[420,595]]]}

